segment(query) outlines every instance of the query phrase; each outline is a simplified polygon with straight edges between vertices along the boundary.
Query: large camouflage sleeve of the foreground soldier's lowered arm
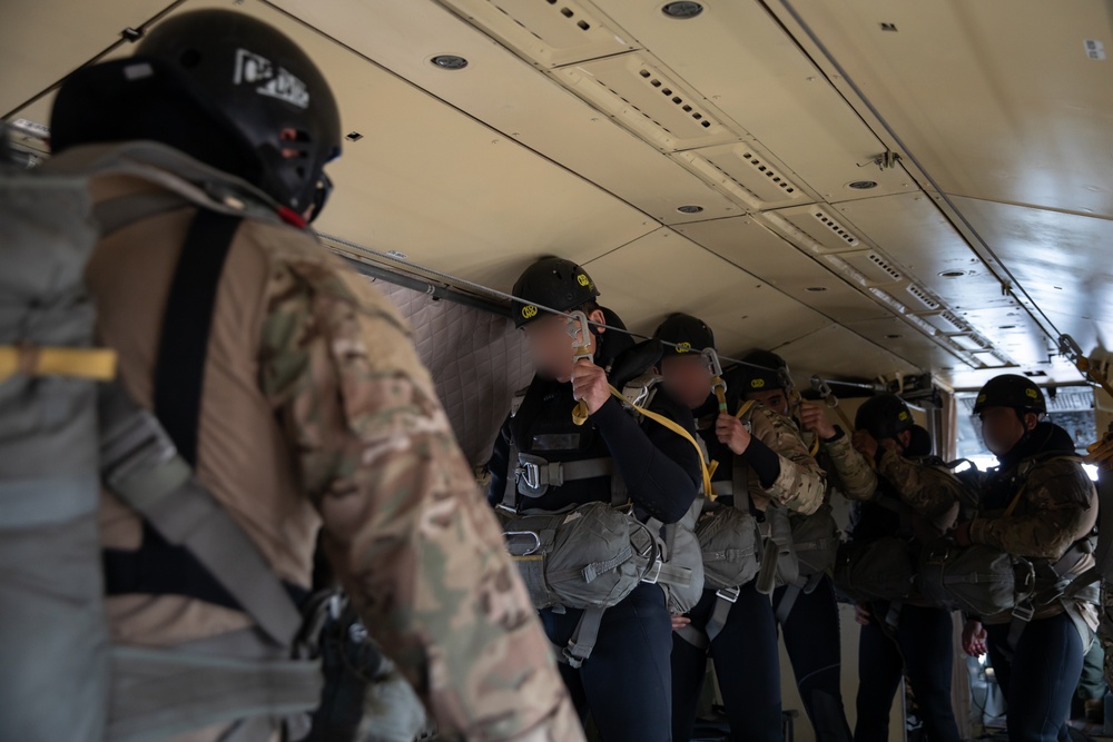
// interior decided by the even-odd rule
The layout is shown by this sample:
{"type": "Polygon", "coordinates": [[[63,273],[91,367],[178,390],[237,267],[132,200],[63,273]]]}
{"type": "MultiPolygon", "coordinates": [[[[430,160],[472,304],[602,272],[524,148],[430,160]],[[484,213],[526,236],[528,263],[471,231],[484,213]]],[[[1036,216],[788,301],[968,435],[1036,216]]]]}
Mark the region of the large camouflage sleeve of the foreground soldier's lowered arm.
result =
{"type": "Polygon", "coordinates": [[[582,739],[404,321],[331,261],[290,259],[270,280],[260,384],[371,634],[445,734],[582,739]]]}

